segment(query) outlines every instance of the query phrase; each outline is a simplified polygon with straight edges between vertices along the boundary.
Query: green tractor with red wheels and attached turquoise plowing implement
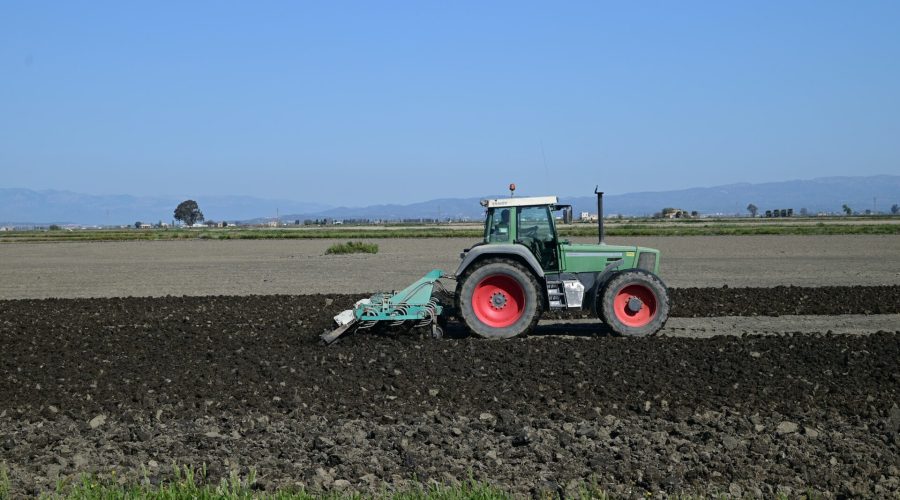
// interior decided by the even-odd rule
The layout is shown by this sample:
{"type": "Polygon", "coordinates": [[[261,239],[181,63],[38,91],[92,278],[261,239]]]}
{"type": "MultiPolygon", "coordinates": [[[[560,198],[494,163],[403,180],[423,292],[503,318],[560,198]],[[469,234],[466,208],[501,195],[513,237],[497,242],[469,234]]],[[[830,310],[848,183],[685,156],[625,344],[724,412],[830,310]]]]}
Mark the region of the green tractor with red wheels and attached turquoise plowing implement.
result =
{"type": "MultiPolygon", "coordinates": [[[[510,186],[510,190],[514,190],[510,186]]],[[[597,190],[599,243],[572,243],[556,230],[557,213],[571,222],[572,207],[556,196],[483,200],[484,239],[460,255],[455,293],[447,293],[435,269],[409,287],[364,299],[335,317],[339,327],[326,343],[351,328],[383,322],[438,326],[445,309],[475,335],[505,339],[529,332],[545,311],[589,310],[616,334],[658,332],[669,316],[669,296],[659,279],[659,250],[604,242],[603,193],[597,190]]]]}

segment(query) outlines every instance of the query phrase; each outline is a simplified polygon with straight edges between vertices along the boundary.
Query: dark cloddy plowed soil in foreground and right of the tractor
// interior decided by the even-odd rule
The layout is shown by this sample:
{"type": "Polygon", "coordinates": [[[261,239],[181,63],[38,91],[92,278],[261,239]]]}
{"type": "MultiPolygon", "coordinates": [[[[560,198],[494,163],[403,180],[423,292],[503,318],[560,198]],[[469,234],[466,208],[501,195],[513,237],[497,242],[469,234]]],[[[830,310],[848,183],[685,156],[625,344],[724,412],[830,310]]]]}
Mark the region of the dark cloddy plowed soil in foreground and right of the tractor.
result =
{"type": "MultiPolygon", "coordinates": [[[[449,328],[319,344],[358,296],[0,301],[0,463],[36,493],[171,464],[256,487],[900,493],[900,325],[623,339],[449,328]],[[115,473],[113,473],[115,471],[115,473]]],[[[900,287],[676,289],[673,316],[886,314],[900,287]]],[[[580,330],[583,331],[583,330],[580,330]]],[[[565,333],[565,332],[563,332],[565,333]]]]}

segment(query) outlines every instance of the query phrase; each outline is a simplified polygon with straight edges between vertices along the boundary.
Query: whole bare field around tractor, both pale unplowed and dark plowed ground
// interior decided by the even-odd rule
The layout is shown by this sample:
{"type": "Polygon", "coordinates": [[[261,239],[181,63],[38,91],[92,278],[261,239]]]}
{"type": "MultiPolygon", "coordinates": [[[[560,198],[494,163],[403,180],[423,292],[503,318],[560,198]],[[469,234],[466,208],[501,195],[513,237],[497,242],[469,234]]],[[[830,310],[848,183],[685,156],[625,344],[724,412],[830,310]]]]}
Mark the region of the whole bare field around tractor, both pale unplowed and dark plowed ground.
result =
{"type": "Polygon", "coordinates": [[[472,241],[0,245],[0,467],[23,495],[173,463],[261,490],[900,494],[900,236],[628,240],[663,251],[661,336],[555,315],[327,348],[331,316],[472,241]]]}

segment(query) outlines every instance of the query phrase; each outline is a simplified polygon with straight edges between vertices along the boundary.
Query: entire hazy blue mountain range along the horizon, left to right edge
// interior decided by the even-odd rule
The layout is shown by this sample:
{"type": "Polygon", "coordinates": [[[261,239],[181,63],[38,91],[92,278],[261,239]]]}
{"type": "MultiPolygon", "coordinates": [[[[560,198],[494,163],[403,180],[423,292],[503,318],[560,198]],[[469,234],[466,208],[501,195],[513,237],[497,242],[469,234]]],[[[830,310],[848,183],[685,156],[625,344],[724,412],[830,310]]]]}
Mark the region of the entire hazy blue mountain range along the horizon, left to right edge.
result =
{"type": "MultiPolygon", "coordinates": [[[[534,193],[558,194],[558,193],[534,193]]],[[[366,207],[329,207],[292,200],[267,200],[248,196],[195,197],[204,215],[213,220],[271,220],[276,212],[285,221],[296,219],[379,219],[453,218],[480,220],[483,198],[506,196],[485,194],[472,198],[442,198],[408,205],[370,205],[366,207]]],[[[68,191],[31,191],[0,189],[0,225],[27,223],[78,223],[90,225],[132,224],[135,221],[171,221],[172,212],[186,197],[97,196],[68,191]]],[[[562,196],[562,203],[579,212],[597,211],[593,194],[562,196]]],[[[746,214],[753,203],[760,212],[806,208],[811,213],[840,212],[841,206],[853,210],[890,211],[900,203],[900,176],[823,177],[811,180],[729,184],[724,186],[607,195],[606,214],[651,215],[664,207],[696,210],[702,214],[746,214]]]]}

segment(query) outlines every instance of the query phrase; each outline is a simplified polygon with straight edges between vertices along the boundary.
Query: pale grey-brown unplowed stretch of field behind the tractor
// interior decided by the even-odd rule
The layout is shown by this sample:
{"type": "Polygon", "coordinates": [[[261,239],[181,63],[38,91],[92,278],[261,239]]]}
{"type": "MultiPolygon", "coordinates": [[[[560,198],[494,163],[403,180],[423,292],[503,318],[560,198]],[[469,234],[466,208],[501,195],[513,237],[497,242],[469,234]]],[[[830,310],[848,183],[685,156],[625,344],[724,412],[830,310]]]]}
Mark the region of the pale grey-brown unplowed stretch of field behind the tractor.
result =
{"type": "MultiPolygon", "coordinates": [[[[0,299],[370,293],[454,272],[474,238],[383,238],[377,254],[326,256],[346,239],[0,244],[0,299]]],[[[592,242],[590,238],[573,241],[592,242]]],[[[663,252],[673,287],[891,285],[900,235],[612,237],[663,252]]]]}

